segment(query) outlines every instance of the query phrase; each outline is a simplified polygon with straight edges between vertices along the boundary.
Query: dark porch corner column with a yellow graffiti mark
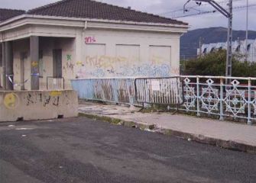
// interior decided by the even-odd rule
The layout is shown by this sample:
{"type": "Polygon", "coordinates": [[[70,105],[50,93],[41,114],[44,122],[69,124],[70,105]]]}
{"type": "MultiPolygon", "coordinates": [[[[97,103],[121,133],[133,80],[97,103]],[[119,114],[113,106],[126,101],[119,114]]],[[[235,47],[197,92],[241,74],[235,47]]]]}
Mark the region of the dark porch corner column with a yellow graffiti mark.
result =
{"type": "Polygon", "coordinates": [[[31,90],[39,90],[39,37],[30,37],[31,90]]]}

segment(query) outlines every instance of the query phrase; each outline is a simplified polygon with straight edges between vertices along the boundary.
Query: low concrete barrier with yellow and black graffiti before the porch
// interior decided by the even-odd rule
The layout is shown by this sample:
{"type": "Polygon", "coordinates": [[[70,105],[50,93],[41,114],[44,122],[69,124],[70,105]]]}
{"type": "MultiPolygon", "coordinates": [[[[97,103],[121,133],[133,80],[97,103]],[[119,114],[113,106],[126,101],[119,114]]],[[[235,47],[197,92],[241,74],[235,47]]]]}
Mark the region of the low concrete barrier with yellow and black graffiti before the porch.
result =
{"type": "Polygon", "coordinates": [[[43,120],[77,114],[77,94],[71,90],[0,92],[0,121],[43,120]]]}

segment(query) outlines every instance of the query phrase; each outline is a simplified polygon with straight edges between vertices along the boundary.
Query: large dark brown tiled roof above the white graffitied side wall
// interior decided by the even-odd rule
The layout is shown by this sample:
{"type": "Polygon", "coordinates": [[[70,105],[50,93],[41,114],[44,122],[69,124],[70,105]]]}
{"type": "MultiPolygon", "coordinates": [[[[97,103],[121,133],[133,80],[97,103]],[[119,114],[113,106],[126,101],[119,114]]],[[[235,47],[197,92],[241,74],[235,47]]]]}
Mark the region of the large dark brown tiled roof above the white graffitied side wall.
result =
{"type": "Polygon", "coordinates": [[[31,9],[27,14],[59,16],[68,18],[95,18],[114,21],[135,21],[144,23],[180,24],[182,21],[147,14],[141,11],[108,5],[93,0],[62,0],[39,8],[31,9]]]}

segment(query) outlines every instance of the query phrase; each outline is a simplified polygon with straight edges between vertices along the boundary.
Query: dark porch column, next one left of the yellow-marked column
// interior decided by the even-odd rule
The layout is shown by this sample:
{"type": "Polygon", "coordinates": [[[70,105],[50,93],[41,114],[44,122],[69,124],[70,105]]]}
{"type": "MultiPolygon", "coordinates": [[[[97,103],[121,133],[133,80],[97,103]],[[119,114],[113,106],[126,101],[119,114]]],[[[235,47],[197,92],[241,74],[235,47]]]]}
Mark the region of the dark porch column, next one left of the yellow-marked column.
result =
{"type": "Polygon", "coordinates": [[[13,90],[13,50],[11,41],[5,42],[6,90],[13,90]]]}

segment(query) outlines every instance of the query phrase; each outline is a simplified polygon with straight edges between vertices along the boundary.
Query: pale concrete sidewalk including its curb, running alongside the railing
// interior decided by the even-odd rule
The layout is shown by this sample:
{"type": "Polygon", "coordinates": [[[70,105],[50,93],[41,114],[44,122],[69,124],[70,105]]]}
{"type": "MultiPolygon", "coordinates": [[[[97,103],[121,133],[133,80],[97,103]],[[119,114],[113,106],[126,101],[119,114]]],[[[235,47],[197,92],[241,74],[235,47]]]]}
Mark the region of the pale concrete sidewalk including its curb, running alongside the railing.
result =
{"type": "Polygon", "coordinates": [[[243,152],[256,152],[256,127],[182,114],[140,113],[139,108],[96,103],[79,104],[79,112],[91,117],[108,117],[121,124],[158,133],[180,136],[243,152]]]}

